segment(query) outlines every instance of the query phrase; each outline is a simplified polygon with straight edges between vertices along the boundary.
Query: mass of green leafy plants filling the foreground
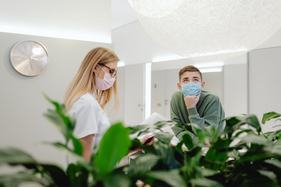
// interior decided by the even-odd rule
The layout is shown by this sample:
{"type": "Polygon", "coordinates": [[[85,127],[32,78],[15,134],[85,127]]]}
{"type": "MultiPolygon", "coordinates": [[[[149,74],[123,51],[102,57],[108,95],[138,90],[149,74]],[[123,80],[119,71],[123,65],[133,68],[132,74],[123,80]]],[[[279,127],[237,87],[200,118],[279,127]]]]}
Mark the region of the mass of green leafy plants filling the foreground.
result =
{"type": "MultiPolygon", "coordinates": [[[[62,149],[77,159],[66,171],[52,164],[40,163],[19,149],[1,148],[0,164],[21,165],[24,171],[0,175],[0,186],[18,186],[22,182],[36,182],[42,186],[135,186],[137,180],[150,186],[281,186],[281,130],[261,132],[255,115],[231,117],[222,133],[212,126],[205,129],[193,126],[199,143],[194,145],[188,134],[176,146],[170,144],[172,134],[155,133],[158,141],[147,146],[129,134],[145,132],[163,125],[141,125],[125,128],[121,123],[113,125],[104,135],[100,149],[90,162],[81,156],[82,146],[73,137],[75,120],[70,118],[64,105],[51,101],[55,109],[44,114],[65,137],[65,142],[48,143],[62,149]],[[249,129],[242,126],[248,124],[249,129]],[[210,148],[203,154],[204,140],[210,148]],[[68,147],[71,141],[73,148],[68,147]],[[238,142],[233,144],[233,142],[238,142]],[[186,146],[188,151],[182,149],[186,146]],[[143,149],[129,165],[117,167],[117,163],[129,150],[143,149]],[[244,150],[241,152],[241,150],[244,150]]],[[[276,112],[264,114],[262,123],[279,118],[276,112]]],[[[277,119],[277,120],[280,120],[277,119]]]]}

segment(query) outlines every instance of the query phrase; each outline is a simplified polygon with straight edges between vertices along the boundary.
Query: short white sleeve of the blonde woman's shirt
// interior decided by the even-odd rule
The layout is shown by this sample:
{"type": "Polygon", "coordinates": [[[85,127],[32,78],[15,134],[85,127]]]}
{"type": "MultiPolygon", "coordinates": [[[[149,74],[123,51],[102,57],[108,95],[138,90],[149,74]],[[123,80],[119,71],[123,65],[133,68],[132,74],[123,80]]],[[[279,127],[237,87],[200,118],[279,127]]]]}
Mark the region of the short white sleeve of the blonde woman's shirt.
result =
{"type": "Polygon", "coordinates": [[[99,133],[96,116],[97,107],[95,106],[95,103],[85,100],[77,105],[74,114],[74,118],[76,119],[73,132],[74,137],[79,139],[99,133]]]}

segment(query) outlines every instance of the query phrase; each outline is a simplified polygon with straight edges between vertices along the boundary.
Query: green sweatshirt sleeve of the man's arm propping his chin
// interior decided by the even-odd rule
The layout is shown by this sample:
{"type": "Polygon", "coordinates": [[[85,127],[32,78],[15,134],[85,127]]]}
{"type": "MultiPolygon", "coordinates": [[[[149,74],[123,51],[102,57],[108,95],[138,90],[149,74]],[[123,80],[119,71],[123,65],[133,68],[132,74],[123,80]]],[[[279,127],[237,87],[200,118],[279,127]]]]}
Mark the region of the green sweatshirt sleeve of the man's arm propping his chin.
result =
{"type": "MultiPolygon", "coordinates": [[[[214,126],[216,129],[218,129],[219,126],[219,120],[220,120],[220,101],[217,98],[213,98],[211,101],[209,101],[206,106],[204,106],[206,109],[200,117],[200,115],[197,112],[196,107],[193,107],[191,109],[187,109],[189,114],[189,120],[191,123],[196,123],[198,126],[200,126],[202,129],[204,129],[207,126],[214,126]]],[[[194,131],[195,132],[195,131],[194,131]]]]}

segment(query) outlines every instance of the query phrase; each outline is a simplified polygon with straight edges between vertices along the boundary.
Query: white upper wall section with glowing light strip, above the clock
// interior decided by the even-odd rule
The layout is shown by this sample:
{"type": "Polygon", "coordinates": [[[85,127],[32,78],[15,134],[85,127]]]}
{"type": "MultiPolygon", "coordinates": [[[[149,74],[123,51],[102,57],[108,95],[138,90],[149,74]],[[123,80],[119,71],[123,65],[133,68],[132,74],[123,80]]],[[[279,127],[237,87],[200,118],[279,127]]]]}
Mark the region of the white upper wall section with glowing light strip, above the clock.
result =
{"type": "Polygon", "coordinates": [[[111,0],[1,1],[0,32],[111,43],[111,0]]]}

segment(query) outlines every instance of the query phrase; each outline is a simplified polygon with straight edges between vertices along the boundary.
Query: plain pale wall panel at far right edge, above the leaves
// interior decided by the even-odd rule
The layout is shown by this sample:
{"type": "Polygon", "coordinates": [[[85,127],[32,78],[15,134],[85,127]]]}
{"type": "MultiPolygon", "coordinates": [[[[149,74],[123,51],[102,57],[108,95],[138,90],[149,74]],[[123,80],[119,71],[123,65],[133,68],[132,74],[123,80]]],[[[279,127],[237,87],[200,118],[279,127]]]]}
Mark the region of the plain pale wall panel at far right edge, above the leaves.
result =
{"type": "MultiPolygon", "coordinates": [[[[249,52],[249,113],[259,121],[267,112],[281,113],[281,47],[249,52]]],[[[276,131],[280,121],[270,120],[262,125],[262,132],[276,131]]]]}

